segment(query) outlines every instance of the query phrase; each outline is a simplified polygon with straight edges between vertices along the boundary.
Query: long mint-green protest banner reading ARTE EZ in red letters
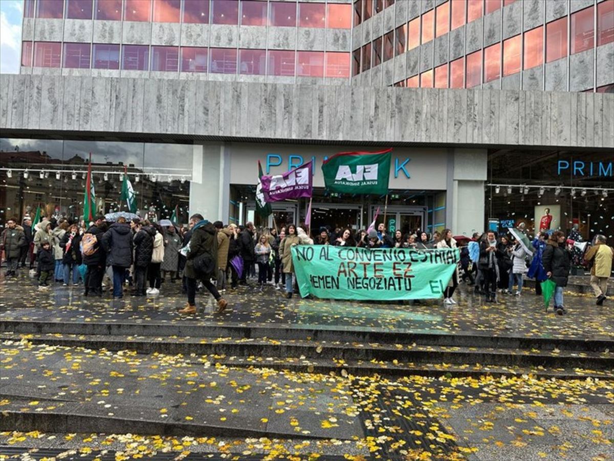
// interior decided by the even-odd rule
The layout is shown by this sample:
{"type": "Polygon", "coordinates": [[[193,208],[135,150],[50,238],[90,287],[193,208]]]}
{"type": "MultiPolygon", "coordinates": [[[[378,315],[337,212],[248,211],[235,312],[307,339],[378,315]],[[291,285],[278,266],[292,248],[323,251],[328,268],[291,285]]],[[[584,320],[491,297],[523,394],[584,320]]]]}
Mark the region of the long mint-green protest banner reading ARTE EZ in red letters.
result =
{"type": "Polygon", "coordinates": [[[292,266],[301,296],[363,301],[429,299],[443,296],[456,270],[457,248],[292,247],[292,266]]]}

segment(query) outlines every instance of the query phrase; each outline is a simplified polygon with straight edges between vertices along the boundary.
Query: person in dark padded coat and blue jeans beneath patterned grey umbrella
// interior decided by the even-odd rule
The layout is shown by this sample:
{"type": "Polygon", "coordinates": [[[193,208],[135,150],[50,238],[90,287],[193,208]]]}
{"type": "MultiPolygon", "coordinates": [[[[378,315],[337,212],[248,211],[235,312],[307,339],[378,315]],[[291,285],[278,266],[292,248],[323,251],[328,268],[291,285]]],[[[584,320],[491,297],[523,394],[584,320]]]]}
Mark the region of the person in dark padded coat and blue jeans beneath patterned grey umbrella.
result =
{"type": "Polygon", "coordinates": [[[123,297],[123,283],[126,280],[126,269],[132,266],[132,232],[126,223],[126,218],[120,217],[104,232],[102,247],[106,254],[107,264],[113,268],[113,297],[123,297]]]}

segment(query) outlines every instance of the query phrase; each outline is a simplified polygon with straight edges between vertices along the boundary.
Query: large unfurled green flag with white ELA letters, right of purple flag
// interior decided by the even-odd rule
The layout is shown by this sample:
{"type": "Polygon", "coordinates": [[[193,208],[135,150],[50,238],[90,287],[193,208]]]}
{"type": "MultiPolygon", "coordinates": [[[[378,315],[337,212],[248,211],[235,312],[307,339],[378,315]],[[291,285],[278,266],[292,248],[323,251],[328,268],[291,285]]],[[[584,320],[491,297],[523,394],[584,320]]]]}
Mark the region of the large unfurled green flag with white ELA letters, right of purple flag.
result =
{"type": "Polygon", "coordinates": [[[344,194],[387,194],[391,151],[341,152],[324,160],[326,188],[344,194]]]}

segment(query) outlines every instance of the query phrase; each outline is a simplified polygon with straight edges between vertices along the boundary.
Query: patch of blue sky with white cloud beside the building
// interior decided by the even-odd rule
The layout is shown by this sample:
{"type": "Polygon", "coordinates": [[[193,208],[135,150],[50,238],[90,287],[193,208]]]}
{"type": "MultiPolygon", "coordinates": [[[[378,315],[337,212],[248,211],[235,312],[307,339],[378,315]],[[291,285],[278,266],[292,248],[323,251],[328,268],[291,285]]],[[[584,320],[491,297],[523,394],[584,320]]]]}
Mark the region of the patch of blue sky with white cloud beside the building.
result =
{"type": "Polygon", "coordinates": [[[23,0],[0,0],[0,73],[19,73],[23,0]]]}

